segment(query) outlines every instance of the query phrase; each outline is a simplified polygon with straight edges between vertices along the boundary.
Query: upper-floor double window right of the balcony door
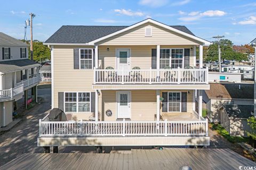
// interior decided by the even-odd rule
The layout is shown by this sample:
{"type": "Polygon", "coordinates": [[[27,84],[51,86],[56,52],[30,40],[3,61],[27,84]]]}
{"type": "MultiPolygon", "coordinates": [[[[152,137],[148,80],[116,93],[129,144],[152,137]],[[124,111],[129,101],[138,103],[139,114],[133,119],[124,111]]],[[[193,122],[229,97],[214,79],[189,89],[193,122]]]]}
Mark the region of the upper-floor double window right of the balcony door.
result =
{"type": "Polygon", "coordinates": [[[183,68],[184,49],[160,49],[160,69],[183,68]]]}

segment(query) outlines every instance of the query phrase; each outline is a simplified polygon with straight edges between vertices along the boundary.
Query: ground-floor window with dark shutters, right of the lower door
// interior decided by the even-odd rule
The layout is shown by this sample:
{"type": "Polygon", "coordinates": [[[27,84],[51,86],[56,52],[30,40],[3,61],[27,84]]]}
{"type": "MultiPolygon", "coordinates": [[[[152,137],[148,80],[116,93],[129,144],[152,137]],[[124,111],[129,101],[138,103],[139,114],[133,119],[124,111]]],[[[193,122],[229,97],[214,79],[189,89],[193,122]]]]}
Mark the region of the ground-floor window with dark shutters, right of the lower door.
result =
{"type": "Polygon", "coordinates": [[[168,112],[181,112],[180,92],[168,92],[168,112]]]}

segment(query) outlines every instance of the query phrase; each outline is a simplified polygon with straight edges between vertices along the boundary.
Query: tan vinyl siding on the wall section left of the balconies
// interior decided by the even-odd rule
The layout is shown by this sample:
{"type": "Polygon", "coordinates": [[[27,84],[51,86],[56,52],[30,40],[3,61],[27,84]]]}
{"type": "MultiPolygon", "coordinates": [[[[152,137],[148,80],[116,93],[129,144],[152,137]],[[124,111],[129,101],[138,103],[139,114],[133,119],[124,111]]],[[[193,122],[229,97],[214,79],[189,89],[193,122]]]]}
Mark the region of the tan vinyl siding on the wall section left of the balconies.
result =
{"type": "Polygon", "coordinates": [[[93,70],[74,69],[74,48],[79,47],[54,46],[54,107],[58,107],[58,92],[94,91],[92,90],[93,70]]]}

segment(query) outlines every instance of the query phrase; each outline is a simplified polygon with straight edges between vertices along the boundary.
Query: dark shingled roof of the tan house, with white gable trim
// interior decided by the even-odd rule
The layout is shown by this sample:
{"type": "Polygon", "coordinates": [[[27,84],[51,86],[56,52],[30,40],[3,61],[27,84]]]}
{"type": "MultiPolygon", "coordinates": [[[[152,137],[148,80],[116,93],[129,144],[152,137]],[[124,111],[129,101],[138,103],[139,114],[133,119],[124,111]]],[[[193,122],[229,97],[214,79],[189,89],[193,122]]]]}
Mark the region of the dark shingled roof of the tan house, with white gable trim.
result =
{"type": "Polygon", "coordinates": [[[209,41],[196,37],[187,27],[181,25],[165,25],[152,19],[146,19],[130,26],[85,26],[85,25],[63,25],[57,30],[44,44],[90,44],[93,45],[108,36],[114,36],[143,23],[151,22],[168,28],[172,31],[182,33],[185,36],[194,38],[198,41],[210,44],[209,41]]]}

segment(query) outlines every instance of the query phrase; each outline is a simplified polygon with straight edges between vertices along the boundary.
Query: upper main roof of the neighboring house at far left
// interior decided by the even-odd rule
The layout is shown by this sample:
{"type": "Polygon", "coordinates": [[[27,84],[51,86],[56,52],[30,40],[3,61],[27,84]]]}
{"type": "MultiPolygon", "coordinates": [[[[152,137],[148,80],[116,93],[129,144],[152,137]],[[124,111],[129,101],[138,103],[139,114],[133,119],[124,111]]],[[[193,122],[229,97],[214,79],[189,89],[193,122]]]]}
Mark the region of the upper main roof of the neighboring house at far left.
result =
{"type": "Polygon", "coordinates": [[[26,43],[0,32],[0,46],[28,46],[26,43]]]}

